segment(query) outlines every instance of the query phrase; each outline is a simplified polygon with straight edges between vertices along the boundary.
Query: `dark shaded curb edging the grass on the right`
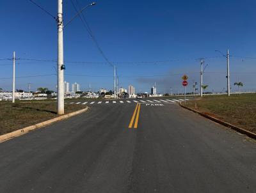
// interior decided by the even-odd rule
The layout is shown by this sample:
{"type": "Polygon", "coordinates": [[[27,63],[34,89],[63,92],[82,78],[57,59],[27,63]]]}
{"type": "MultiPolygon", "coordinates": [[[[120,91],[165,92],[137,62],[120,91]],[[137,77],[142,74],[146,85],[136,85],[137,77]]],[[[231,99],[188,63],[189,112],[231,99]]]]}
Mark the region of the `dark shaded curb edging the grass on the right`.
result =
{"type": "Polygon", "coordinates": [[[196,111],[196,110],[194,110],[194,109],[190,109],[189,107],[186,107],[186,106],[182,105],[181,103],[179,103],[179,105],[180,105],[180,107],[183,107],[184,109],[188,109],[189,111],[192,111],[192,112],[195,112],[195,113],[197,113],[197,114],[200,114],[200,116],[203,116],[204,118],[207,118],[207,119],[209,119],[209,120],[212,120],[212,121],[214,121],[214,122],[216,122],[216,123],[219,123],[220,125],[223,125],[223,126],[225,126],[225,127],[232,128],[233,130],[236,130],[237,132],[239,132],[239,133],[241,133],[241,134],[244,134],[244,135],[247,135],[248,137],[251,137],[251,138],[253,138],[253,139],[256,139],[256,134],[254,134],[253,132],[250,132],[250,131],[248,131],[248,130],[245,130],[244,128],[237,127],[237,126],[235,126],[235,125],[232,125],[232,124],[227,123],[227,122],[225,122],[225,121],[221,121],[221,120],[219,120],[219,119],[217,119],[217,118],[214,118],[214,117],[209,116],[209,115],[207,115],[207,114],[204,114],[204,113],[202,113],[202,112],[196,111]]]}

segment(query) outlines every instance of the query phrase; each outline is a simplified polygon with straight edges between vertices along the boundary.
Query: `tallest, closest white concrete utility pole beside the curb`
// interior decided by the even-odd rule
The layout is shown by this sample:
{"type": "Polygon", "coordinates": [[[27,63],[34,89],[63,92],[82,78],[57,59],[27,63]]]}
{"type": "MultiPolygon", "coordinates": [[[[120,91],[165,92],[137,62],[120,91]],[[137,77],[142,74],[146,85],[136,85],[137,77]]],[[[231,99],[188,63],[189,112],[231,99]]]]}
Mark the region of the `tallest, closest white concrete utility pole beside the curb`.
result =
{"type": "Polygon", "coordinates": [[[58,0],[58,114],[64,114],[63,17],[62,0],[58,0]]]}

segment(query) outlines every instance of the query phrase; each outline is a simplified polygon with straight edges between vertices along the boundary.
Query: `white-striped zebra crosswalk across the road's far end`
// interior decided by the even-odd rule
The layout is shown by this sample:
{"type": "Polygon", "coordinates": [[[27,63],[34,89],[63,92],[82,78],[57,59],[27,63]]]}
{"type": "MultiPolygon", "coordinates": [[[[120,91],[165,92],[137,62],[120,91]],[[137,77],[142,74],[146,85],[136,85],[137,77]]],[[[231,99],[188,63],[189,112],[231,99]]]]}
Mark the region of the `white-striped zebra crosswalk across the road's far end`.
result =
{"type": "MultiPolygon", "coordinates": [[[[189,99],[186,99],[189,100],[189,99]]],[[[162,104],[175,104],[178,102],[182,102],[184,99],[159,99],[159,100],[103,100],[103,101],[86,101],[86,102],[69,102],[68,104],[74,104],[74,105],[85,105],[85,104],[132,104],[132,103],[141,103],[141,104],[148,104],[148,103],[162,103],[162,104]]]]}

